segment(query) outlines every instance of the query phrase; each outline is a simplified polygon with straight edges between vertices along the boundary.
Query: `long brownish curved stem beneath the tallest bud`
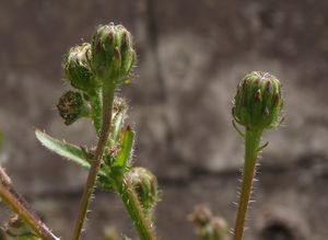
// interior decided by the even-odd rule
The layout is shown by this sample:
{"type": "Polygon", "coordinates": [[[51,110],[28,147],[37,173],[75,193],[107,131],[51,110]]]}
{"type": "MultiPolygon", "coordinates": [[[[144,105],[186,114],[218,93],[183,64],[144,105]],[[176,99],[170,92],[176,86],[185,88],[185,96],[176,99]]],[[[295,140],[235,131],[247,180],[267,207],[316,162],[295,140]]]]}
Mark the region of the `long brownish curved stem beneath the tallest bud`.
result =
{"type": "Polygon", "coordinates": [[[115,85],[104,85],[102,132],[101,132],[99,140],[97,142],[97,147],[94,153],[91,168],[89,170],[89,175],[83,191],[83,196],[80,204],[79,215],[75,221],[72,240],[79,240],[81,237],[81,231],[86,218],[89,205],[91,202],[91,196],[93,194],[94,186],[97,179],[97,173],[101,168],[102,157],[104,155],[104,150],[109,137],[114,93],[115,93],[115,85]]]}

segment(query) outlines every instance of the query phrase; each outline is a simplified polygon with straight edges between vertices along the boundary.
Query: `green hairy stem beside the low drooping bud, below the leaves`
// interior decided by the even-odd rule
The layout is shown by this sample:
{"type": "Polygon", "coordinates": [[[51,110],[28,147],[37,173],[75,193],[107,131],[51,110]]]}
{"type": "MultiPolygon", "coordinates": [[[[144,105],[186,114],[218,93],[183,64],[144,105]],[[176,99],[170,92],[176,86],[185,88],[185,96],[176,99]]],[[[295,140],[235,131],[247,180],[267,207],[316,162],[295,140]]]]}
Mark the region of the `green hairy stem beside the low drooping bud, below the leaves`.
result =
{"type": "Polygon", "coordinates": [[[151,224],[151,219],[145,216],[128,174],[125,174],[122,180],[116,180],[116,184],[140,239],[156,240],[157,238],[151,224]]]}

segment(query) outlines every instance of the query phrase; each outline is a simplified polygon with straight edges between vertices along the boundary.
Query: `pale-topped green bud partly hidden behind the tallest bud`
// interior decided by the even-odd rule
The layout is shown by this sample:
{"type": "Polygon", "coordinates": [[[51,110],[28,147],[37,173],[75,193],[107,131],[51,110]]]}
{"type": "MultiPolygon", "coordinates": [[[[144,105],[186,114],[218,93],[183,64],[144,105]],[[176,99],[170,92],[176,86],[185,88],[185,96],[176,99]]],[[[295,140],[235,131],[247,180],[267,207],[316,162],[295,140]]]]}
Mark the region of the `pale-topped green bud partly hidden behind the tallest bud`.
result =
{"type": "Polygon", "coordinates": [[[91,46],[84,43],[72,47],[65,59],[66,78],[73,88],[84,92],[90,92],[97,84],[89,66],[90,58],[91,46]]]}

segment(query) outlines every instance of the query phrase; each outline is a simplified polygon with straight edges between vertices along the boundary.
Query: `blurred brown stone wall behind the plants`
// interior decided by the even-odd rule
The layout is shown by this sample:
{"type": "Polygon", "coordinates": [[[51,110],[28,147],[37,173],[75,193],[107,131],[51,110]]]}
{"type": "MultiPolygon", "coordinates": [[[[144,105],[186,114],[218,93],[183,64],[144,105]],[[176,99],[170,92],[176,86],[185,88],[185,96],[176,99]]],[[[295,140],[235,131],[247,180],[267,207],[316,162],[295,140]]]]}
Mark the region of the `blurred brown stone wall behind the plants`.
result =
{"type": "MultiPolygon", "coordinates": [[[[17,188],[63,239],[73,227],[85,171],[48,152],[34,127],[93,145],[86,121],[66,127],[55,104],[62,55],[101,23],[136,36],[139,64],[130,100],[137,164],[164,192],[161,239],[196,239],[186,216],[207,203],[233,226],[243,142],[230,105],[251,70],[282,80],[284,127],[267,133],[246,239],[326,240],[328,235],[328,2],[324,0],[11,0],[0,1],[1,153],[17,188]],[[293,235],[296,235],[293,237],[293,235]]],[[[5,213],[1,208],[0,219],[5,213]]],[[[84,239],[103,228],[134,231],[120,201],[97,192],[84,239]]],[[[133,237],[136,238],[136,237],[133,237]]]]}

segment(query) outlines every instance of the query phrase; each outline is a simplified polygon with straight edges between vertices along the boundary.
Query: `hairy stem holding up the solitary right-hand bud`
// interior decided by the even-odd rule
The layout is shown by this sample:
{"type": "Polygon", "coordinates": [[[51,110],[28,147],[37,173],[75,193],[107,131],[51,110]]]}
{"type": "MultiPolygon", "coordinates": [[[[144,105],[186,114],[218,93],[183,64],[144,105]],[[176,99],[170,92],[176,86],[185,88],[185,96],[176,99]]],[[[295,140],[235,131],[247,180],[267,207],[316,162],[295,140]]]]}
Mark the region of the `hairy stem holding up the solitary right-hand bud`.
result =
{"type": "Polygon", "coordinates": [[[251,185],[256,172],[256,160],[262,130],[246,129],[245,135],[245,162],[243,171],[242,193],[235,222],[234,240],[242,240],[246,221],[248,203],[251,194],[251,185]]]}

